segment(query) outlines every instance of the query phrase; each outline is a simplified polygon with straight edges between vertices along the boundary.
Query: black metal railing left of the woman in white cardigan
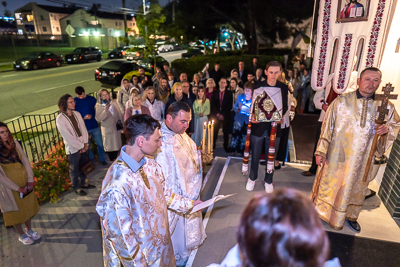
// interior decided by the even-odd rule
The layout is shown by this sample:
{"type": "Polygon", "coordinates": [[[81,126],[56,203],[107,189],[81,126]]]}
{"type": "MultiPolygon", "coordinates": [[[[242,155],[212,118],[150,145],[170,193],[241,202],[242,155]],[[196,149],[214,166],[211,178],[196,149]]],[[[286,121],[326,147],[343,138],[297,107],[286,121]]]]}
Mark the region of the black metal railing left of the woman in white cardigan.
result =
{"type": "Polygon", "coordinates": [[[58,111],[46,115],[22,115],[7,123],[31,162],[44,160],[49,150],[61,140],[57,130],[58,111]]]}

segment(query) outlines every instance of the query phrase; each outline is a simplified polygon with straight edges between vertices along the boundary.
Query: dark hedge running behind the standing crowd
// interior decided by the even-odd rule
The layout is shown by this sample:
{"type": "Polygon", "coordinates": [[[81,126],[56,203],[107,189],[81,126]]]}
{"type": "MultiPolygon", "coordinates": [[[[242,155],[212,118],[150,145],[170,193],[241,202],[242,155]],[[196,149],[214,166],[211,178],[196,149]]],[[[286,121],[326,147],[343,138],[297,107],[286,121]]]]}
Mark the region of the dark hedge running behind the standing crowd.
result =
{"type": "MultiPolygon", "coordinates": [[[[176,71],[179,73],[185,72],[188,74],[189,81],[192,80],[193,75],[202,71],[204,66],[209,63],[209,71],[214,69],[214,63],[219,61],[220,68],[224,72],[226,78],[228,78],[231,74],[232,69],[238,69],[239,61],[243,61],[245,64],[245,68],[251,66],[254,55],[233,55],[233,56],[221,56],[221,55],[204,55],[204,56],[196,56],[188,59],[175,59],[172,61],[171,65],[176,71]]],[[[283,56],[257,56],[258,65],[261,68],[265,68],[270,61],[279,61],[283,62],[283,56]]]]}

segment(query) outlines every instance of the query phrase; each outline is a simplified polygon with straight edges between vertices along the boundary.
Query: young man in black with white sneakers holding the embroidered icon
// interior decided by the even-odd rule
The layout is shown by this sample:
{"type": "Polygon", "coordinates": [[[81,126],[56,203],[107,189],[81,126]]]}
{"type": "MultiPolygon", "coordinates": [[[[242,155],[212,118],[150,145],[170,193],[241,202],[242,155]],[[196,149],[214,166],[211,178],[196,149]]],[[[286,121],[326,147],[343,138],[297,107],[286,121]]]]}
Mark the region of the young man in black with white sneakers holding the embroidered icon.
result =
{"type": "MultiPolygon", "coordinates": [[[[256,85],[256,88],[260,87],[278,87],[280,88],[281,91],[281,97],[282,97],[282,118],[283,115],[286,113],[288,110],[288,93],[289,93],[289,88],[286,84],[281,83],[278,81],[279,75],[282,73],[282,65],[281,63],[277,61],[272,61],[267,64],[265,68],[265,74],[267,75],[267,80],[259,83],[256,85]]],[[[255,101],[255,99],[253,99],[255,101]]],[[[254,111],[252,111],[254,112],[254,111]]],[[[258,176],[258,167],[259,167],[259,161],[260,161],[260,156],[261,156],[261,150],[262,150],[262,145],[265,139],[265,158],[267,159],[268,151],[269,151],[269,144],[270,144],[270,135],[271,135],[271,128],[272,128],[272,123],[271,122],[258,122],[255,121],[255,116],[254,113],[251,118],[251,151],[252,151],[252,157],[251,157],[251,167],[250,167],[250,177],[247,181],[246,184],[246,190],[247,191],[252,191],[254,189],[254,185],[257,180],[258,176]]],[[[282,119],[283,121],[283,119],[282,119]]],[[[279,141],[280,141],[280,136],[281,136],[281,126],[280,123],[282,121],[277,122],[277,130],[276,130],[276,139],[275,139],[275,148],[279,147],[279,141]]],[[[275,152],[278,150],[275,149],[275,152]]],[[[276,154],[276,153],[275,153],[276,154]]],[[[268,166],[268,164],[266,164],[268,166]]],[[[267,167],[266,167],[267,168],[267,167]]],[[[264,186],[265,186],[265,191],[267,193],[273,192],[273,185],[272,185],[272,178],[273,178],[273,172],[272,173],[267,173],[267,169],[265,169],[265,178],[264,178],[264,186]]]]}

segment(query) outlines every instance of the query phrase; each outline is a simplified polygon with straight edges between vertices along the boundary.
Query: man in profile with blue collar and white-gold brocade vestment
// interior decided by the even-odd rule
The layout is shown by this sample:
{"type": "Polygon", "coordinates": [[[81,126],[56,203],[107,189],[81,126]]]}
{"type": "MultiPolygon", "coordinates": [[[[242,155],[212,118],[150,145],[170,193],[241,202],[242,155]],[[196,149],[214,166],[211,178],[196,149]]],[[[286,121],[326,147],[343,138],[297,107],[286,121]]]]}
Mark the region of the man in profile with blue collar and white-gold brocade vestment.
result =
{"type": "Polygon", "coordinates": [[[186,213],[191,200],[165,188],[154,155],[161,145],[160,124],[149,115],[125,121],[127,146],[109,168],[96,211],[103,236],[104,266],[176,266],[167,207],[186,213]]]}

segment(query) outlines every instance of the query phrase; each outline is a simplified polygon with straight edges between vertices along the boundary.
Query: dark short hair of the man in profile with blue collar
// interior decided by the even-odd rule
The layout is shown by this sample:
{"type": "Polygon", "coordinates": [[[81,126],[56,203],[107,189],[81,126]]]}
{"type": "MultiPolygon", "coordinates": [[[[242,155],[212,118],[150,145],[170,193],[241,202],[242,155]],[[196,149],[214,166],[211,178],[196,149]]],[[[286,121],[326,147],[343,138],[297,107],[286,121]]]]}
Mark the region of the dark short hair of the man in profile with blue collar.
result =
{"type": "Polygon", "coordinates": [[[143,136],[146,140],[153,135],[156,129],[160,129],[160,123],[147,114],[136,114],[126,119],[124,123],[124,134],[128,146],[135,144],[136,138],[143,136]]]}

